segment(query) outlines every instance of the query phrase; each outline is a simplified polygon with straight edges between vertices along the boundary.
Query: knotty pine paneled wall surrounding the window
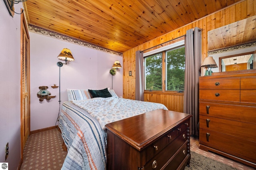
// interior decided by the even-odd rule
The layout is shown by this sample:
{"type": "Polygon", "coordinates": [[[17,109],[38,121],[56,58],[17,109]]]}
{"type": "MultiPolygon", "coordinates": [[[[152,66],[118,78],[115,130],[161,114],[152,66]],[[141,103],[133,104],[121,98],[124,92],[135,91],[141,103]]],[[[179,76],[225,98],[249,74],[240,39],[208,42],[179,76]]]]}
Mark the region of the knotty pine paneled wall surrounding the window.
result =
{"type": "MultiPolygon", "coordinates": [[[[223,10],[220,10],[214,14],[201,18],[188,25],[184,25],[179,29],[176,29],[170,33],[167,33],[161,37],[148,41],[142,45],[139,45],[129,51],[123,53],[123,97],[128,99],[135,99],[135,53],[138,50],[145,50],[150,47],[159,45],[171,39],[175,39],[186,34],[186,30],[199,27],[202,29],[202,60],[207,57],[208,47],[208,31],[234,23],[239,20],[256,15],[256,0],[242,0],[238,3],[229,6],[223,10]],[[132,71],[132,76],[129,76],[129,71],[132,71]]],[[[182,111],[183,108],[183,96],[170,93],[154,93],[144,94],[144,100],[149,102],[163,103],[170,110],[182,111]],[[172,106],[172,105],[175,106],[172,106]]]]}

